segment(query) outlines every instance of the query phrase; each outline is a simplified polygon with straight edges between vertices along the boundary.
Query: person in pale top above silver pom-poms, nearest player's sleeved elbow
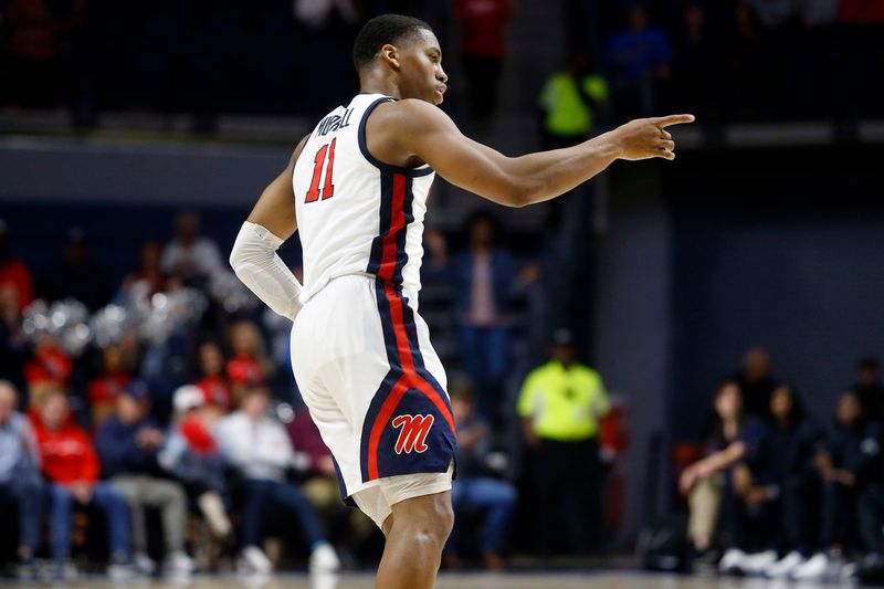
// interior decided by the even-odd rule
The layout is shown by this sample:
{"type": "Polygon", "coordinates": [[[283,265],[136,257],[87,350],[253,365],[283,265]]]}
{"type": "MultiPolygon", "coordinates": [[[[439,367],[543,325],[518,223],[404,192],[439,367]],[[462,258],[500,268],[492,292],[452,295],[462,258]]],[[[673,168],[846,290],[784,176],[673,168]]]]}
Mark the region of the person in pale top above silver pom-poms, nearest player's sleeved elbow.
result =
{"type": "Polygon", "coordinates": [[[166,274],[194,285],[227,272],[218,245],[200,235],[200,219],[194,213],[181,213],[176,219],[175,239],[166,245],[160,265],[166,274]]]}

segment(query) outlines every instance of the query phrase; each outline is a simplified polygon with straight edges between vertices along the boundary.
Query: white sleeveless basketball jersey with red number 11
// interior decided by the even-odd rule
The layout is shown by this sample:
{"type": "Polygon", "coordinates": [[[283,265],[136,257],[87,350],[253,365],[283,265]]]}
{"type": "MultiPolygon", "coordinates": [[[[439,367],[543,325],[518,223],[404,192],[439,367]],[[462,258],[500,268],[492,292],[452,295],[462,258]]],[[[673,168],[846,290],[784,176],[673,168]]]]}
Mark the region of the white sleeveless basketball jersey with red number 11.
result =
{"type": "Polygon", "coordinates": [[[292,178],[308,301],[328,282],[369,274],[404,291],[417,308],[423,218],[435,173],[375,159],[366,144],[371,111],[394,98],[358,94],[326,115],[304,144],[292,178]]]}

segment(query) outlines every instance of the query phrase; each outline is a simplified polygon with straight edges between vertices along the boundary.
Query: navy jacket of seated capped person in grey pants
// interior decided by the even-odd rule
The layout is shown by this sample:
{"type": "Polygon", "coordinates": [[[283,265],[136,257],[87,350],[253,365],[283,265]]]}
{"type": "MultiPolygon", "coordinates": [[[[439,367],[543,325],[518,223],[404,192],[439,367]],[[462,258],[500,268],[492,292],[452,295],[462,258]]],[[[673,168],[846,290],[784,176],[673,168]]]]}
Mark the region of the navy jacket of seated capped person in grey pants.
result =
{"type": "Polygon", "coordinates": [[[95,437],[95,448],[102,459],[102,474],[105,477],[119,474],[158,475],[162,472],[157,463],[157,450],[138,445],[136,437],[143,428],[159,429],[150,419],[125,425],[116,416],[102,424],[95,437]]]}

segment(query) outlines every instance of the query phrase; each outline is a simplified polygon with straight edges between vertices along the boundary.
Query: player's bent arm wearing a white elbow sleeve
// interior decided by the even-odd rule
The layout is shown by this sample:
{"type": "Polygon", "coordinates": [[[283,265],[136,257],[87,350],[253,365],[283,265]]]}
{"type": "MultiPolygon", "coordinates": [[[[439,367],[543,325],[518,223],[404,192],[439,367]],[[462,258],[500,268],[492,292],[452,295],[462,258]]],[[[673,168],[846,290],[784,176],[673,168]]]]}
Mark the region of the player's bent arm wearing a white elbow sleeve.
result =
{"type": "Polygon", "coordinates": [[[297,229],[292,173],[306,140],[301,140],[288,166],[261,193],[230,252],[230,265],[243,284],[275,313],[292,320],[301,311],[302,286],[276,250],[297,229]]]}

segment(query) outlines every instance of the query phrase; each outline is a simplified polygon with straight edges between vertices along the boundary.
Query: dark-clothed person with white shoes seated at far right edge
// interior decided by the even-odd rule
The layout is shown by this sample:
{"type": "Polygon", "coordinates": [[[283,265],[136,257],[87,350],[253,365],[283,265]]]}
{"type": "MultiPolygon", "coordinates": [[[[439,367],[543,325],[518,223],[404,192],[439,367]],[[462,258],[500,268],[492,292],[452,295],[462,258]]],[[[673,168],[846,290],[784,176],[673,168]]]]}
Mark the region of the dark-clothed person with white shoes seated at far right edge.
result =
{"type": "Polygon", "coordinates": [[[881,427],[865,419],[860,397],[841,393],[835,427],[829,443],[817,455],[823,481],[820,546],[807,562],[792,570],[796,580],[819,580],[838,565],[845,549],[856,545],[859,494],[881,482],[881,427]]]}

